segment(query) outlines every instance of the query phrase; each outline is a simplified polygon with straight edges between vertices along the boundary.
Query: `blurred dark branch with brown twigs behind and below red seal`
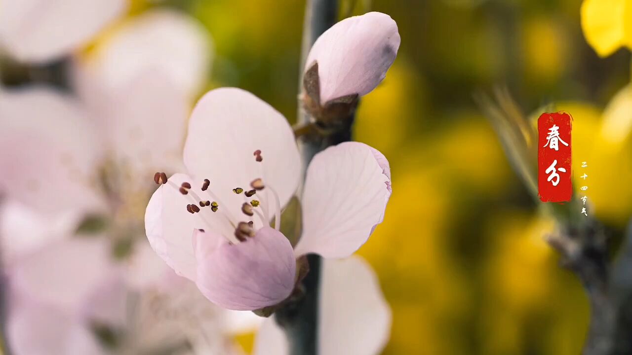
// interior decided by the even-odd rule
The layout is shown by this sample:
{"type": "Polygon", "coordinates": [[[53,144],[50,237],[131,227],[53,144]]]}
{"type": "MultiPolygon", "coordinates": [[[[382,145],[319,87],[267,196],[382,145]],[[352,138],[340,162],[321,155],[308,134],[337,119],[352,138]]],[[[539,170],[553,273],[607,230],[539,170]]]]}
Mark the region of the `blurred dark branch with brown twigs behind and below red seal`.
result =
{"type": "MultiPolygon", "coordinates": [[[[499,136],[513,168],[538,201],[537,131],[521,114],[506,88],[494,99],[483,93],[475,100],[499,136]]],[[[583,355],[632,354],[632,221],[621,256],[611,263],[607,238],[599,222],[570,215],[574,203],[547,203],[543,209],[559,226],[546,240],[561,254],[561,264],[581,280],[590,301],[590,327],[583,355]]],[[[576,214],[574,214],[576,215],[576,214]]]]}

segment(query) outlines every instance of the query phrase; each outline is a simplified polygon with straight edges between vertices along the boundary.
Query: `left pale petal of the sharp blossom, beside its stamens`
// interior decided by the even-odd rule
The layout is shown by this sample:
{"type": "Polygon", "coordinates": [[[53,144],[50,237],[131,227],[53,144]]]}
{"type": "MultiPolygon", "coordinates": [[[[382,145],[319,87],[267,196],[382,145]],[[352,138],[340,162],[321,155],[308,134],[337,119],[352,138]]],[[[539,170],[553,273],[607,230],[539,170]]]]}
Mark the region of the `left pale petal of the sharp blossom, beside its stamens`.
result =
{"type": "Polygon", "coordinates": [[[202,181],[195,181],[185,174],[174,174],[168,180],[176,186],[185,181],[190,183],[191,192],[182,195],[171,184],[161,185],[145,210],[145,233],[154,251],[176,274],[195,281],[193,232],[205,229],[220,236],[233,235],[234,227],[221,212],[213,213],[210,207],[202,207],[195,215],[187,212],[186,205],[196,203],[193,193],[204,196],[200,190],[202,181]]]}

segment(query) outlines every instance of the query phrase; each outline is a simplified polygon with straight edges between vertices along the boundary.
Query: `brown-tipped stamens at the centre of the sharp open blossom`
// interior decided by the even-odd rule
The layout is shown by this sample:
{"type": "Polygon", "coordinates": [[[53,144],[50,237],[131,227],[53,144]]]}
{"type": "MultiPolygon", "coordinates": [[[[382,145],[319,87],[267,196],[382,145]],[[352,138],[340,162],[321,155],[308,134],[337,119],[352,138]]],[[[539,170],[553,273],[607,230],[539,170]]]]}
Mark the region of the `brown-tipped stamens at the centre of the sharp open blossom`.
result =
{"type": "MultiPolygon", "coordinates": [[[[263,157],[261,150],[255,150],[253,153],[255,161],[262,164],[263,157]]],[[[270,211],[274,213],[274,228],[278,231],[281,228],[281,203],[279,201],[279,195],[274,188],[269,185],[265,185],[264,169],[262,165],[259,165],[259,176],[250,183],[250,189],[245,190],[242,187],[236,187],[232,189],[235,195],[243,196],[243,203],[241,204],[241,210],[231,211],[228,208],[229,205],[223,203],[219,197],[213,193],[211,181],[204,179],[200,184],[201,193],[198,195],[191,189],[191,183],[185,181],[178,184],[167,179],[164,172],[156,172],[154,174],[154,182],[156,184],[167,184],[171,188],[177,190],[181,195],[188,198],[188,204],[183,206],[187,212],[194,215],[199,219],[200,225],[204,225],[205,229],[209,230],[217,229],[217,224],[212,224],[210,219],[215,217],[214,214],[219,214],[219,217],[224,219],[223,225],[225,228],[221,228],[218,231],[229,243],[240,243],[246,241],[247,238],[255,236],[255,231],[264,226],[270,226],[270,211]],[[233,214],[233,212],[235,214],[233,214]],[[254,215],[257,215],[257,219],[252,219],[254,215]]]]}

